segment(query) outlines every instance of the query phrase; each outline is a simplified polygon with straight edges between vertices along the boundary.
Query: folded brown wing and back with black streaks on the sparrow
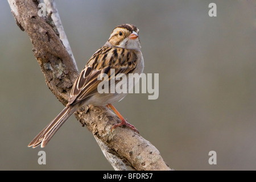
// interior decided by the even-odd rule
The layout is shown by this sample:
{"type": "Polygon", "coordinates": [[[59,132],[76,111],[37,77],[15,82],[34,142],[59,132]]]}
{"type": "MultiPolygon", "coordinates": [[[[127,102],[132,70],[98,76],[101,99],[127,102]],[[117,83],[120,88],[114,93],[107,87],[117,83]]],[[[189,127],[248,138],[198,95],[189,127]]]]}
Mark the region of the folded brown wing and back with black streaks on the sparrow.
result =
{"type": "Polygon", "coordinates": [[[96,94],[97,86],[101,82],[97,78],[101,73],[107,74],[110,80],[118,73],[124,73],[125,75],[133,73],[136,67],[137,56],[130,49],[108,46],[98,49],[75,81],[68,105],[76,104],[96,94]],[[110,75],[110,69],[115,69],[114,75],[110,75]]]}

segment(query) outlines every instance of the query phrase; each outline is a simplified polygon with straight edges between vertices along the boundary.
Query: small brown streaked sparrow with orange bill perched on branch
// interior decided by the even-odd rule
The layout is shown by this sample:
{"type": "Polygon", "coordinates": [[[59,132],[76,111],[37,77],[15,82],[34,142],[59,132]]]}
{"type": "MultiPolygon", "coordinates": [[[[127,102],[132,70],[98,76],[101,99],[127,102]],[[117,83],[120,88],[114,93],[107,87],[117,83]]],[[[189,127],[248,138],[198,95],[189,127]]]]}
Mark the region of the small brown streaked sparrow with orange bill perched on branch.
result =
{"type": "MultiPolygon", "coordinates": [[[[138,73],[141,75],[144,68],[144,61],[138,34],[139,29],[133,24],[121,24],[114,28],[108,41],[90,57],[79,77],[77,77],[72,86],[68,104],[51,123],[36,135],[30,144],[28,144],[28,147],[35,148],[39,145],[45,147],[63,123],[75,111],[85,105],[108,106],[109,109],[112,109],[118,115],[121,122],[112,126],[111,133],[113,129],[122,125],[126,125],[139,133],[112,105],[113,102],[121,101],[128,92],[117,93],[115,91],[114,93],[99,93],[97,89],[98,84],[101,82],[98,77],[102,73],[108,75],[109,80],[113,76],[123,73],[127,76],[126,81],[128,82],[129,73],[138,73]],[[112,75],[110,75],[111,69],[114,69],[114,74],[111,72],[112,75]]],[[[112,84],[116,85],[120,81],[125,80],[112,81],[109,83],[109,87],[112,84]]],[[[136,82],[128,84],[129,86],[134,86],[136,82]]]]}

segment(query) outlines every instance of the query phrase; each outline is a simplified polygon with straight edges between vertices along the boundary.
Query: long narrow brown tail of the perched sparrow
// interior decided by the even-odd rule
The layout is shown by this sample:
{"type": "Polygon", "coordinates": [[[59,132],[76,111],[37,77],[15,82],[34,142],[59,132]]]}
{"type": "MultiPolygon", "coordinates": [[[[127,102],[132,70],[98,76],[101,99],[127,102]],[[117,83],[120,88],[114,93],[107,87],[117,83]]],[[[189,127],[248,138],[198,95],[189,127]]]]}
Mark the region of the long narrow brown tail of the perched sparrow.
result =
{"type": "Polygon", "coordinates": [[[63,111],[51,123],[49,123],[36,137],[28,144],[28,147],[35,148],[41,144],[45,147],[56,131],[75,112],[72,107],[65,107],[63,111]]]}

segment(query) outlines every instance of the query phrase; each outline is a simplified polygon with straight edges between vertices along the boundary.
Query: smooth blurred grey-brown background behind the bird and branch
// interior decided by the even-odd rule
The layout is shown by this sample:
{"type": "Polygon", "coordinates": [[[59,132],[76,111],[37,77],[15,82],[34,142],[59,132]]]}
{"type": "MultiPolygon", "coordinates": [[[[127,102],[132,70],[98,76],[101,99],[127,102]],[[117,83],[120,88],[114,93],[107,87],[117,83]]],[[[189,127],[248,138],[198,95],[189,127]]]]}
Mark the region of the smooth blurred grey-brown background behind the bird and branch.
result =
{"type": "MultiPolygon", "coordinates": [[[[256,2],[56,1],[79,70],[119,24],[140,32],[144,73],[159,73],[159,98],[114,104],[176,170],[256,169],[256,2]],[[209,17],[208,5],[217,5],[209,17]],[[217,165],[209,165],[209,151],[217,165]]],[[[0,1],[0,169],[112,170],[75,117],[46,148],[27,144],[63,105],[48,89],[30,38],[0,1]]]]}

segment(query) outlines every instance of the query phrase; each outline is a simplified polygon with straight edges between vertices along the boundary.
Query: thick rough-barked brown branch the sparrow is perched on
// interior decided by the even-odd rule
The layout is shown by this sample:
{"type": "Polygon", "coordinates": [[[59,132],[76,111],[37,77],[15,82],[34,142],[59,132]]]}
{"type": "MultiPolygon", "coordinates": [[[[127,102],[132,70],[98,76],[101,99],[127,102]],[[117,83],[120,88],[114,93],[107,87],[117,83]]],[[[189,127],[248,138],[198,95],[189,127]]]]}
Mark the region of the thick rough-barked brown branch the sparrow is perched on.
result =
{"type": "MultiPolygon", "coordinates": [[[[47,17],[38,16],[38,1],[8,0],[19,27],[30,36],[33,52],[52,93],[64,105],[79,73],[47,17]]],[[[119,118],[108,107],[82,107],[76,118],[101,140],[111,154],[136,170],[170,170],[159,151],[146,139],[126,127],[110,133],[119,118]]]]}

